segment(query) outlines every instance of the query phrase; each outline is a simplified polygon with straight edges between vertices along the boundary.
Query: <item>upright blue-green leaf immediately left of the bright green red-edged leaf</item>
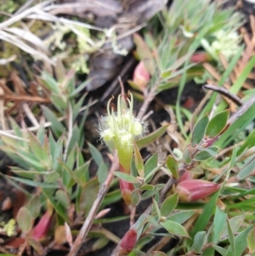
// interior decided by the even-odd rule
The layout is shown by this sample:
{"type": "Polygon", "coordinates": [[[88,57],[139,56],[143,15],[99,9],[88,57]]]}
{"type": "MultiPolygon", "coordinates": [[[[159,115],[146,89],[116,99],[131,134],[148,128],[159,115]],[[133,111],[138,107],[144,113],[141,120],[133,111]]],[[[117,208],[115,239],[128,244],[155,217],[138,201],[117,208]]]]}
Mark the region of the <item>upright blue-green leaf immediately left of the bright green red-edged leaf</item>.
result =
{"type": "Polygon", "coordinates": [[[208,115],[205,115],[195,123],[195,126],[192,131],[192,135],[191,135],[192,146],[195,146],[201,143],[201,140],[205,135],[208,122],[209,122],[209,117],[208,115]]]}

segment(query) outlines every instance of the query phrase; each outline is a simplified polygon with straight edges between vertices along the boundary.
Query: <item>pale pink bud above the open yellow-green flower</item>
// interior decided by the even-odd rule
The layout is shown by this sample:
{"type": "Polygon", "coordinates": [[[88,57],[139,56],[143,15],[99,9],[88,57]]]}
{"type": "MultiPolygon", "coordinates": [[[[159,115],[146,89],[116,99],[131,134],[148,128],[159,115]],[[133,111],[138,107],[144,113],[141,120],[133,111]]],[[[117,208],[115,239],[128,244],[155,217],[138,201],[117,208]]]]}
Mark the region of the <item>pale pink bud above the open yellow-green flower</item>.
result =
{"type": "Polygon", "coordinates": [[[133,71],[133,82],[143,91],[149,81],[150,73],[146,70],[144,62],[140,61],[133,71]]]}

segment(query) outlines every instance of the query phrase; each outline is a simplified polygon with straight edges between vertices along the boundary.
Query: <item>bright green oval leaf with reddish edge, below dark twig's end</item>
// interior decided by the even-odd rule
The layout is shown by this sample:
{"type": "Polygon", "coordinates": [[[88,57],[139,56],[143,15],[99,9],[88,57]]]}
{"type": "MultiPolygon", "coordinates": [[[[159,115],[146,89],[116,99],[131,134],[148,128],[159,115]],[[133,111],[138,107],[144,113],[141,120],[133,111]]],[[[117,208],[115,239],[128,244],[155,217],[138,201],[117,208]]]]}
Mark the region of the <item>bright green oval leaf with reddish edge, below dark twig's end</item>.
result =
{"type": "Polygon", "coordinates": [[[207,124],[206,135],[217,137],[224,130],[229,118],[229,110],[219,112],[207,124]]]}

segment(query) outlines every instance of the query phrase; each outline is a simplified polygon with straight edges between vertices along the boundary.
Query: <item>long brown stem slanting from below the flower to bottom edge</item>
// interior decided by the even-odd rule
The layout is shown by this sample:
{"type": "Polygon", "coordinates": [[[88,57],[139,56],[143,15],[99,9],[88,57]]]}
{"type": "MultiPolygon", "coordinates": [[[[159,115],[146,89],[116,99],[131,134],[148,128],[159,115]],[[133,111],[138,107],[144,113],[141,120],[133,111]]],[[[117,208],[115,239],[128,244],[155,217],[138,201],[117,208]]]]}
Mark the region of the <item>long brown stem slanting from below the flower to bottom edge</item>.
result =
{"type": "Polygon", "coordinates": [[[99,209],[99,206],[100,206],[102,200],[104,199],[106,192],[108,191],[109,185],[111,184],[111,180],[114,177],[113,172],[115,172],[118,169],[118,167],[119,167],[119,162],[118,162],[117,155],[115,154],[115,156],[112,159],[110,172],[109,172],[107,178],[105,179],[105,182],[102,185],[101,189],[99,190],[98,196],[97,196],[96,200],[94,201],[94,204],[88,213],[88,217],[87,217],[87,219],[85,219],[85,221],[82,225],[82,229],[80,230],[80,233],[77,236],[76,241],[74,242],[73,246],[71,247],[71,251],[68,254],[68,256],[76,256],[77,253],[79,252],[80,248],[82,247],[82,243],[85,241],[88,231],[90,230],[90,228],[93,224],[94,218],[96,216],[96,213],[99,209]]]}

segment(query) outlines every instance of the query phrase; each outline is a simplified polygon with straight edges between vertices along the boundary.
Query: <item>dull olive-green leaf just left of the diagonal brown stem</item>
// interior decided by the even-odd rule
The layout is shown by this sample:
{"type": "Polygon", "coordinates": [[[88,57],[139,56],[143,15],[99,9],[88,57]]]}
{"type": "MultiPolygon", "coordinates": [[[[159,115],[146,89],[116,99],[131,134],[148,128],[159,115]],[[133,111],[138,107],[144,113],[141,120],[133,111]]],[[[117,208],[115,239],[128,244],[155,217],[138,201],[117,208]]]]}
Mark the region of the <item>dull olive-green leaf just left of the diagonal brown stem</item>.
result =
{"type": "Polygon", "coordinates": [[[90,179],[82,189],[80,197],[79,210],[88,216],[88,213],[94,204],[99,193],[99,180],[97,177],[90,179]]]}

